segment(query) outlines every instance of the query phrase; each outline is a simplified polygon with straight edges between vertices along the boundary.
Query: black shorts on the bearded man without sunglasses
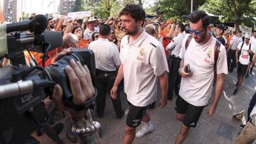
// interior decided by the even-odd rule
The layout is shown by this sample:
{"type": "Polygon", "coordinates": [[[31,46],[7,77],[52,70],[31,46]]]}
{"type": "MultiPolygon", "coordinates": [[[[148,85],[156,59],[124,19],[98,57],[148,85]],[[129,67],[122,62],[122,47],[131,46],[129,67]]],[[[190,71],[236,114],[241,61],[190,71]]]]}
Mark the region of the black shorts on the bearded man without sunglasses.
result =
{"type": "Polygon", "coordinates": [[[149,106],[134,106],[129,103],[129,113],[127,116],[126,125],[131,128],[136,128],[142,123],[142,118],[149,106]]]}

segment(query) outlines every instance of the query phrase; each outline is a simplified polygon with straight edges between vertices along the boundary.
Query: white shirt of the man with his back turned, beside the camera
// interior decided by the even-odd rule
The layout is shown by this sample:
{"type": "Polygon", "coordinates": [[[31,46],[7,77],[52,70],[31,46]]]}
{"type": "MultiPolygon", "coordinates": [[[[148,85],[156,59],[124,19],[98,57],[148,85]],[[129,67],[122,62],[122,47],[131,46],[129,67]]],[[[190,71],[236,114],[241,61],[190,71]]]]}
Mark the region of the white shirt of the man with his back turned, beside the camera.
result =
{"type": "Polygon", "coordinates": [[[105,38],[93,41],[88,48],[95,53],[96,69],[112,72],[121,64],[117,45],[105,38]]]}

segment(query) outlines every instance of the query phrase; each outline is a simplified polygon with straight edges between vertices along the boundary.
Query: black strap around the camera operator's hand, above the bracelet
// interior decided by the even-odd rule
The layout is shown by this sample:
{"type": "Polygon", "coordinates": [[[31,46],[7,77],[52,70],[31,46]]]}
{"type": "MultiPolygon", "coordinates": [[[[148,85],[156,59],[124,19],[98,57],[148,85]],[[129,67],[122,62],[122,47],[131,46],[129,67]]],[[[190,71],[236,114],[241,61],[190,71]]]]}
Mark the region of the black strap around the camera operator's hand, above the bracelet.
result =
{"type": "Polygon", "coordinates": [[[75,109],[75,111],[80,111],[83,109],[92,109],[92,107],[95,105],[95,99],[97,96],[97,89],[95,89],[95,95],[92,96],[91,99],[87,100],[84,104],[74,104],[70,99],[66,99],[64,101],[65,106],[68,106],[71,109],[75,109]]]}

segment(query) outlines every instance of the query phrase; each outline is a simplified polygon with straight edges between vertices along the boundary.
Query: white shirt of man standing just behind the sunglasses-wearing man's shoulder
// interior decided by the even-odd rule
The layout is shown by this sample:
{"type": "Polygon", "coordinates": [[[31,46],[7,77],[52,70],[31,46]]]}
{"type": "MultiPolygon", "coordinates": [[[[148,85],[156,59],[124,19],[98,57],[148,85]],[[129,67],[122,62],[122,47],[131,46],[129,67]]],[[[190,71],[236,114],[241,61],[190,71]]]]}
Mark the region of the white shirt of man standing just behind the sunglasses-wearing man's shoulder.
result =
{"type": "Polygon", "coordinates": [[[173,40],[171,40],[171,43],[167,45],[167,48],[171,50],[171,55],[179,57],[179,53],[181,52],[182,41],[184,38],[185,34],[179,33],[173,40]]]}

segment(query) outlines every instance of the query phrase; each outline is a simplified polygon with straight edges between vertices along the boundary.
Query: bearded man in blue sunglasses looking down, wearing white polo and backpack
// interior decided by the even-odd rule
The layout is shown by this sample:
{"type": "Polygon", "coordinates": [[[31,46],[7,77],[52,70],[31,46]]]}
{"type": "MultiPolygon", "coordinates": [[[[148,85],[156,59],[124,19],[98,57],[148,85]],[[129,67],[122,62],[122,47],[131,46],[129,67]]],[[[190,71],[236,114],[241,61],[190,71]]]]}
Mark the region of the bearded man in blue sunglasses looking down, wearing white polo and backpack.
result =
{"type": "MultiPolygon", "coordinates": [[[[216,66],[216,87],[213,104],[208,109],[212,116],[222,94],[224,74],[228,74],[225,47],[220,45],[218,60],[215,64],[216,38],[208,32],[210,17],[204,11],[193,11],[188,16],[191,33],[183,40],[181,46],[181,65],[178,70],[181,75],[181,87],[176,99],[176,118],[183,125],[176,138],[176,144],[185,140],[189,128],[196,127],[203,108],[208,104],[213,92],[214,69],[216,66]],[[189,42],[188,42],[189,41],[189,42]],[[188,67],[189,64],[189,67],[188,67]],[[186,67],[186,68],[185,68],[186,67]],[[186,70],[185,70],[186,69],[186,70]]],[[[217,49],[218,50],[218,49],[217,49]]]]}

